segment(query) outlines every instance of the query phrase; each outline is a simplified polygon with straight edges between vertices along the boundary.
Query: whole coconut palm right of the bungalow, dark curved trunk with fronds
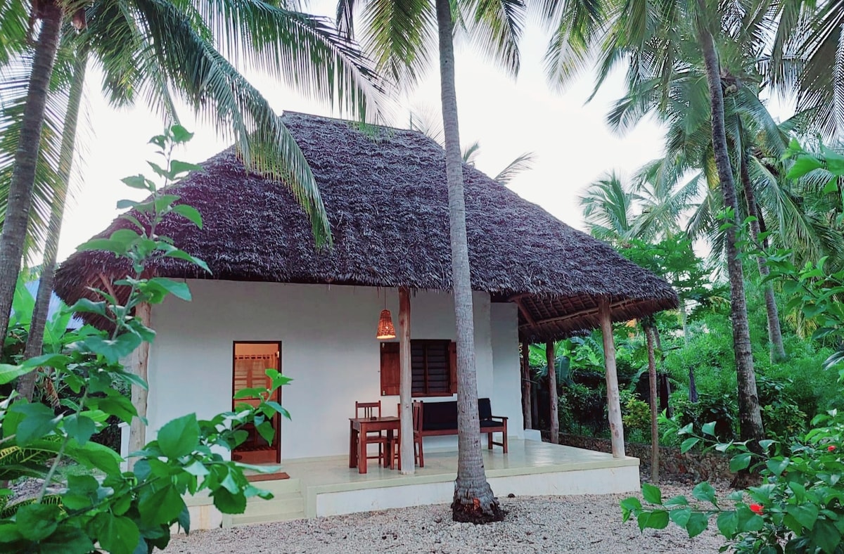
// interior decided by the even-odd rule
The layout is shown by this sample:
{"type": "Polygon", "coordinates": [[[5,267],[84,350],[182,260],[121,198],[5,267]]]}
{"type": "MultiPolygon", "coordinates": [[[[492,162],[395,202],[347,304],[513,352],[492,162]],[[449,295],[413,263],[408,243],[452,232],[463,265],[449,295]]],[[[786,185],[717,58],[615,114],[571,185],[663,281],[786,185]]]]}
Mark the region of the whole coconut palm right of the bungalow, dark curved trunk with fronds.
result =
{"type": "MultiPolygon", "coordinates": [[[[745,29],[764,35],[766,6],[749,7],[742,2],[714,3],[695,0],[692,3],[648,3],[644,0],[598,3],[546,0],[544,13],[555,25],[546,65],[553,83],[567,82],[578,69],[598,52],[598,84],[620,60],[629,62],[629,89],[652,83],[653,94],[660,105],[669,100],[668,84],[677,73],[687,71],[684,51],[692,48],[702,53],[701,75],[708,94],[707,111],[711,121],[711,146],[717,179],[722,192],[722,206],[728,223],[727,263],[730,283],[730,305],[733,321],[733,352],[738,374],[739,421],[743,438],[763,438],[755,371],[750,351],[747,305],[744,298],[744,272],[738,256],[738,196],[733,180],[727,133],[724,123],[724,89],[722,64],[716,48],[731,44],[724,32],[745,29]]],[[[729,83],[727,89],[729,90],[729,83]]],[[[688,109],[688,107],[687,107],[688,109]]]]}

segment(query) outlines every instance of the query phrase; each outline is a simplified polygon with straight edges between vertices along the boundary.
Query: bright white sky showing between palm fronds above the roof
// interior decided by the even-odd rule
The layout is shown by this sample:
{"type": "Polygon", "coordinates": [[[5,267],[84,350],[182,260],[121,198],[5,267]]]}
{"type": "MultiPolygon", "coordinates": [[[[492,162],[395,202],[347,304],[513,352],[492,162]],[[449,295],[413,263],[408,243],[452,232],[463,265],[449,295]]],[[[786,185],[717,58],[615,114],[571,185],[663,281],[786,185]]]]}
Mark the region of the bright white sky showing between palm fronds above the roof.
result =
{"type": "MultiPolygon", "coordinates": [[[[333,13],[334,3],[321,2],[313,13],[333,13]]],[[[624,137],[604,124],[609,106],[621,94],[620,78],[605,83],[600,94],[584,105],[592,91],[592,75],[583,75],[565,94],[549,89],[542,60],[547,35],[538,25],[527,24],[522,40],[522,71],[516,81],[476,55],[472,47],[457,46],[457,102],[460,134],[465,147],[480,142],[477,167],[496,175],[512,159],[525,152],[535,154],[533,169],[511,182],[511,189],[536,202],[557,218],[582,229],[577,197],[610,169],[632,175],[662,153],[663,133],[649,121],[624,137]]],[[[330,106],[320,105],[279,83],[257,74],[246,74],[273,105],[283,110],[332,116],[330,106]]],[[[620,77],[620,76],[619,76],[620,77]]],[[[394,110],[396,126],[407,126],[408,107],[437,110],[440,103],[439,75],[433,67],[418,89],[394,110]]],[[[116,217],[115,203],[140,193],[122,185],[127,175],[149,175],[146,160],[154,159],[149,137],[161,132],[164,122],[149,110],[112,110],[102,100],[100,76],[89,72],[87,131],[80,131],[83,162],[78,166],[81,186],[68,205],[59,259],[105,229],[116,217]],[[134,193],[134,195],[133,195],[134,193]]],[[[177,159],[200,163],[228,146],[214,129],[192,120],[181,111],[182,124],[196,136],[177,159]]]]}

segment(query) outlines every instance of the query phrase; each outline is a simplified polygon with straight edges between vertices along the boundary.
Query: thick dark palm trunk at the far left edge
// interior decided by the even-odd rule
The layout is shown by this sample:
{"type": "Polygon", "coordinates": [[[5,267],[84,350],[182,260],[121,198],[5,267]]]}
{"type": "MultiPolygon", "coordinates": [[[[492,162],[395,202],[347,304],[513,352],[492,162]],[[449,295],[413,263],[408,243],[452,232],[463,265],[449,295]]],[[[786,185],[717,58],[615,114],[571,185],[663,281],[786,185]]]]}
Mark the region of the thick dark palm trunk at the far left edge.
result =
{"type": "Polygon", "coordinates": [[[35,164],[41,144],[41,126],[50,85],[53,64],[56,62],[59,33],[62,30],[62,10],[53,2],[40,6],[41,32],[35,45],[30,85],[21,122],[18,149],[14,153],[14,170],[8,188],[8,205],[0,234],[0,339],[8,331],[8,316],[12,309],[14,285],[18,281],[21,257],[24,255],[26,228],[30,221],[32,187],[35,184],[35,164]]]}

